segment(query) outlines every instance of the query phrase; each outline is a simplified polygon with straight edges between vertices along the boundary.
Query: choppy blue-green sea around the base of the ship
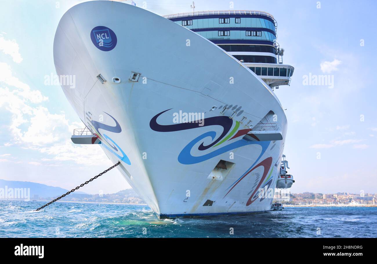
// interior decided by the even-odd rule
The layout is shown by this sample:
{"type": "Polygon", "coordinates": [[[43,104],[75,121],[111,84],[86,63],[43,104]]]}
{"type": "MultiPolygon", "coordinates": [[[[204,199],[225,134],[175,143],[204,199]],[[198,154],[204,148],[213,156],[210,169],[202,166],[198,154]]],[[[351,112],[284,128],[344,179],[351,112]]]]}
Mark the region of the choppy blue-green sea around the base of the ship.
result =
{"type": "Polygon", "coordinates": [[[56,202],[33,211],[43,204],[0,200],[0,237],[377,237],[376,207],[159,220],[144,205],[56,202]]]}

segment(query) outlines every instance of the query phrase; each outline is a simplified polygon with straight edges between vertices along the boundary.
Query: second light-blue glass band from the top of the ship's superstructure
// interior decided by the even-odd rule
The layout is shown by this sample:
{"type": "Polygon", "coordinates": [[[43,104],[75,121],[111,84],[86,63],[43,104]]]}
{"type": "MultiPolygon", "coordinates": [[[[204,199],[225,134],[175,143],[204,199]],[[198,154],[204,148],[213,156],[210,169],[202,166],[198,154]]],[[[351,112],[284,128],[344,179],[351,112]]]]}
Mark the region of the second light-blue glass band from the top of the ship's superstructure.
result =
{"type": "Polygon", "coordinates": [[[229,30],[229,31],[200,31],[200,32],[195,32],[202,37],[207,38],[208,40],[269,40],[269,41],[274,41],[276,40],[276,37],[274,34],[267,32],[267,31],[262,31],[261,36],[247,36],[246,35],[247,31],[240,31],[240,30],[229,30]],[[219,32],[229,32],[227,35],[221,35],[219,36],[219,32]]]}

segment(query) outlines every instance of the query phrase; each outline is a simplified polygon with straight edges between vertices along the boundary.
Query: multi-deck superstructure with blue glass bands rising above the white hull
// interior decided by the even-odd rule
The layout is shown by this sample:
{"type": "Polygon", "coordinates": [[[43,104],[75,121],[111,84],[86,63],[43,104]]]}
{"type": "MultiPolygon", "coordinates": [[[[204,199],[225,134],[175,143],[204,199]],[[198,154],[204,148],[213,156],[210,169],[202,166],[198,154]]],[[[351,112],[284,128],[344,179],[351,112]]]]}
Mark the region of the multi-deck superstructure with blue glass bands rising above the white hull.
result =
{"type": "Polygon", "coordinates": [[[289,85],[294,67],[283,64],[277,22],[262,11],[200,11],[166,15],[175,23],[215,43],[252,70],[271,88],[289,85]]]}

